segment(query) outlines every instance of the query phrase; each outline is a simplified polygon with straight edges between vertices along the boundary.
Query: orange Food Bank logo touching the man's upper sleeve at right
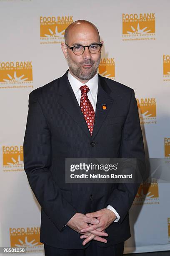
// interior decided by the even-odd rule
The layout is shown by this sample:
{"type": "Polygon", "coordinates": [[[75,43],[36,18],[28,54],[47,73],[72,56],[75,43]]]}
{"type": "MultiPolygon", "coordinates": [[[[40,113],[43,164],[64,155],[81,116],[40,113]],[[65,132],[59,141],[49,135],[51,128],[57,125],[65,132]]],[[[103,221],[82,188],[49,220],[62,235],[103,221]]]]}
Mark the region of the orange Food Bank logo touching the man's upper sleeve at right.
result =
{"type": "Polygon", "coordinates": [[[156,99],[136,99],[139,110],[140,123],[156,123],[156,99]]]}

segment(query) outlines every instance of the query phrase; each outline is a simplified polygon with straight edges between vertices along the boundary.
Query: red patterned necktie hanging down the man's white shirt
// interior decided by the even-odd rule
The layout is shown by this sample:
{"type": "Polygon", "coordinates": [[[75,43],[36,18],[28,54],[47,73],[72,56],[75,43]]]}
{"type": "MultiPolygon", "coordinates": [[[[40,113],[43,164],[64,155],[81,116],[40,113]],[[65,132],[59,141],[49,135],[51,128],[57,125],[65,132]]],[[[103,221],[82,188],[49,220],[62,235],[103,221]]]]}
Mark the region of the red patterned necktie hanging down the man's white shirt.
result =
{"type": "Polygon", "coordinates": [[[90,90],[87,85],[82,85],[81,90],[81,99],[80,99],[80,108],[84,115],[85,121],[89,128],[90,134],[92,136],[92,130],[95,123],[95,111],[92,107],[90,100],[88,99],[87,92],[90,90]]]}

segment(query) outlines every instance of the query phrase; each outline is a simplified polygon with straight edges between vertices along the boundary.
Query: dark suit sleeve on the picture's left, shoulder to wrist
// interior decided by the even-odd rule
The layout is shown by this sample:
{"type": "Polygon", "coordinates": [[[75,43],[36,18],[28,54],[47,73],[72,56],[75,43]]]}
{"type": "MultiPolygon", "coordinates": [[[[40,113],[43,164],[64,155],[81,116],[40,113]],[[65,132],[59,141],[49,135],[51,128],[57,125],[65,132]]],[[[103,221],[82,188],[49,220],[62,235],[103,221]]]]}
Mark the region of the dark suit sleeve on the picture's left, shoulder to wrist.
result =
{"type": "Polygon", "coordinates": [[[29,110],[24,137],[24,169],[32,191],[48,218],[62,231],[77,210],[62,197],[52,178],[51,135],[34,91],[29,95],[29,110]]]}

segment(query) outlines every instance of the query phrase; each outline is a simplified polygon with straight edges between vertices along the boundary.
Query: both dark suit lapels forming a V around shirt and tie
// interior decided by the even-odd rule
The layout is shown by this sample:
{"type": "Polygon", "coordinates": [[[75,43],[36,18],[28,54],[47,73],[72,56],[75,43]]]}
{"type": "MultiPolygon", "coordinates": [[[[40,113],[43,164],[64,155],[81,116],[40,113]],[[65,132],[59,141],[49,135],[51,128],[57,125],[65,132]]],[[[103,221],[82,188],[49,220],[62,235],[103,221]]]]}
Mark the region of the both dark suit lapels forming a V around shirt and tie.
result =
{"type": "Polygon", "coordinates": [[[97,103],[96,103],[96,111],[95,111],[95,124],[93,127],[92,136],[90,135],[90,131],[87,127],[87,123],[82,114],[80,106],[77,102],[75,94],[72,90],[70,82],[67,77],[67,72],[60,78],[60,84],[58,89],[59,99],[58,102],[62,107],[67,111],[67,113],[75,120],[75,122],[82,128],[82,130],[86,133],[86,135],[93,140],[99,131],[102,123],[104,122],[107,114],[109,113],[110,107],[112,105],[113,99],[110,97],[110,88],[99,75],[99,84],[97,91],[97,103]],[[106,110],[102,109],[102,104],[106,105],[106,110]]]}

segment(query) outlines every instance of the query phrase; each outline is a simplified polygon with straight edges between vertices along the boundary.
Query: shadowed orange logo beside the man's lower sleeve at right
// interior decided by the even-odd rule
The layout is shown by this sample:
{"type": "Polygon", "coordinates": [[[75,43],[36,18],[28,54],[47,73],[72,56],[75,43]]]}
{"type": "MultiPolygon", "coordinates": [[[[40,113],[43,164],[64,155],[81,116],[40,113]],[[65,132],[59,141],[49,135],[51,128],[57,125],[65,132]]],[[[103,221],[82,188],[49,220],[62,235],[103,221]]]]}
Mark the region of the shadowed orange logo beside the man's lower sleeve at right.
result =
{"type": "Polygon", "coordinates": [[[159,204],[158,182],[141,183],[134,204],[159,204]]]}

